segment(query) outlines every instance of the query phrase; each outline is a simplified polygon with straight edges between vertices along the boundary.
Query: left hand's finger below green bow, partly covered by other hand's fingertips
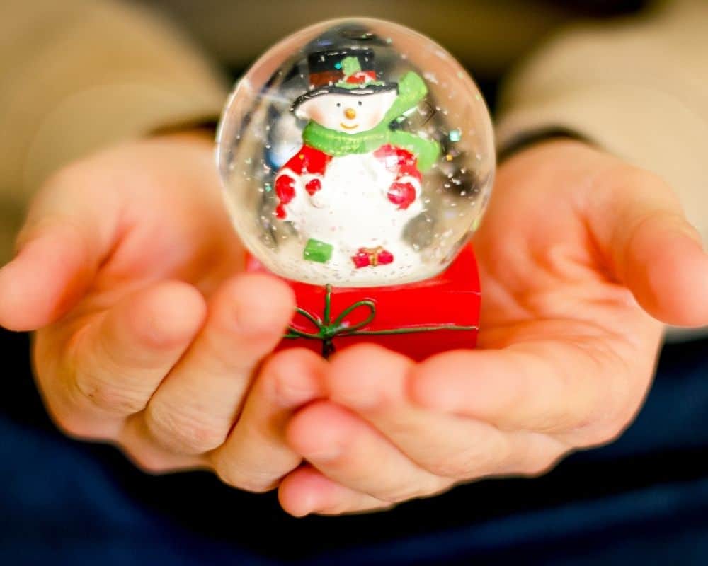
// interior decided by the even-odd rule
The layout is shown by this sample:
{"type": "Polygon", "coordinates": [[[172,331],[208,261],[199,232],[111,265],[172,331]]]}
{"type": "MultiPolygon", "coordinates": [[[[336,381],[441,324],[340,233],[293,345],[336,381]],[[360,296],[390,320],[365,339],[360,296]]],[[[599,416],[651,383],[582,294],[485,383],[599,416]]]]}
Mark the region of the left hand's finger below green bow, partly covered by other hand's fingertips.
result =
{"type": "Polygon", "coordinates": [[[285,444],[285,424],[297,408],[321,398],[325,369],[309,350],[286,350],[266,362],[229,438],[211,455],[225,483],[262,492],[299,466],[302,457],[285,444]]]}

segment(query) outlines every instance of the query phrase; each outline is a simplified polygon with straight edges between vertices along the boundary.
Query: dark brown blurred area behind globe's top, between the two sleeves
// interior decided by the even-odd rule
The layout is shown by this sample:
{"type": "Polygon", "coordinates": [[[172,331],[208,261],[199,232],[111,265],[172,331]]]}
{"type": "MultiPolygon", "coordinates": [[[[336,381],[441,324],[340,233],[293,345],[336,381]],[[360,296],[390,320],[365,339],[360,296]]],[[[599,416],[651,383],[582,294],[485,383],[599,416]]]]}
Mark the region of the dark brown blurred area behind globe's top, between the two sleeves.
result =
{"type": "Polygon", "coordinates": [[[238,75],[270,45],[307,25],[331,18],[368,16],[401,23],[428,35],[494,87],[520,57],[566,23],[603,21],[651,8],[639,0],[138,0],[176,21],[238,75]]]}

